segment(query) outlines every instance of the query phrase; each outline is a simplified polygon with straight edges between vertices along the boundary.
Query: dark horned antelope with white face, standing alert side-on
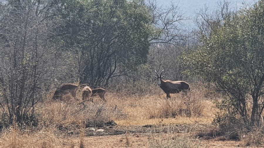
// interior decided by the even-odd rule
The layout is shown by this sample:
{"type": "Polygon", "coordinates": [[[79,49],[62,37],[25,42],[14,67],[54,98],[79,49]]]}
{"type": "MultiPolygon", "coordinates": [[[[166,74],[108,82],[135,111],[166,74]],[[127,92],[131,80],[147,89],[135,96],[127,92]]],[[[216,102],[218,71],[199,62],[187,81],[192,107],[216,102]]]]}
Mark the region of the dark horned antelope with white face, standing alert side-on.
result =
{"type": "MultiPolygon", "coordinates": [[[[162,70],[162,72],[163,71],[164,69],[162,70]]],[[[185,81],[171,81],[171,80],[164,81],[162,80],[165,76],[165,75],[161,76],[162,72],[159,75],[157,71],[155,70],[155,73],[157,74],[157,76],[153,75],[153,77],[158,80],[158,85],[167,94],[167,99],[170,98],[170,94],[179,93],[181,91],[184,91],[185,93],[187,93],[187,91],[190,90],[189,83],[185,81]]]]}

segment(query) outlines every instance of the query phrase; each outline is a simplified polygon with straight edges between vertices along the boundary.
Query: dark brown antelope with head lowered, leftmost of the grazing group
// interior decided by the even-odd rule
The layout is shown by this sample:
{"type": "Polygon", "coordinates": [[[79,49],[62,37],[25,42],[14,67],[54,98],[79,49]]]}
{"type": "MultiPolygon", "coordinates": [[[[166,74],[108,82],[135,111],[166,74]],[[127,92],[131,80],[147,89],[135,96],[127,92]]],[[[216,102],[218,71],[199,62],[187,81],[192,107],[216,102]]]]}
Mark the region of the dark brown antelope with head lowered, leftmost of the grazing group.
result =
{"type": "Polygon", "coordinates": [[[65,96],[72,95],[72,97],[76,98],[78,85],[67,83],[62,85],[61,87],[57,88],[53,95],[53,99],[60,99],[60,101],[64,101],[65,96]]]}

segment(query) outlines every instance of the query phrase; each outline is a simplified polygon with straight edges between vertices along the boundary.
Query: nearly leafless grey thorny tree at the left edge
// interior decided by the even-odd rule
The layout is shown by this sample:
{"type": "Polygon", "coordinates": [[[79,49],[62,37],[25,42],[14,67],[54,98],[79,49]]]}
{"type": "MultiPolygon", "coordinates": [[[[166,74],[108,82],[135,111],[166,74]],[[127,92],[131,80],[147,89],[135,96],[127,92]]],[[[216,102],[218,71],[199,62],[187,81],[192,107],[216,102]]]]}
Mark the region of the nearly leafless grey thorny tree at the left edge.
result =
{"type": "Polygon", "coordinates": [[[0,5],[0,105],[9,124],[33,119],[41,83],[47,79],[52,45],[48,40],[55,23],[44,4],[39,0],[0,5]]]}

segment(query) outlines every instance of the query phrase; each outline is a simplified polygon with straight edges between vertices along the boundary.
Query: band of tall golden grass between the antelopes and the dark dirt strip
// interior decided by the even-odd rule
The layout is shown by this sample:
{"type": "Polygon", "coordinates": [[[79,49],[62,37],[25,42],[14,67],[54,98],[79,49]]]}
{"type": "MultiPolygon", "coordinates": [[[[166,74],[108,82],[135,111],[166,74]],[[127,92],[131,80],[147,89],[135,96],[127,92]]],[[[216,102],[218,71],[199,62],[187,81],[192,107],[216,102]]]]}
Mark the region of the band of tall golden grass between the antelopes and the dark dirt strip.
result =
{"type": "MultiPolygon", "coordinates": [[[[79,122],[82,114],[84,119],[90,119],[98,124],[107,120],[114,120],[121,125],[150,122],[159,124],[157,121],[160,119],[164,122],[192,123],[190,120],[196,121],[198,118],[201,118],[203,123],[210,123],[214,109],[212,101],[204,98],[206,94],[205,90],[194,89],[186,96],[181,93],[171,94],[172,98],[166,99],[166,94],[162,91],[142,96],[108,92],[106,103],[100,98],[95,98],[95,104],[85,102],[87,105],[85,109],[82,109],[83,105],[78,105],[80,101],[74,99],[68,102],[47,99],[36,106],[36,113],[41,115],[40,125],[45,126],[79,122]]],[[[81,96],[80,92],[78,96],[81,96]]]]}

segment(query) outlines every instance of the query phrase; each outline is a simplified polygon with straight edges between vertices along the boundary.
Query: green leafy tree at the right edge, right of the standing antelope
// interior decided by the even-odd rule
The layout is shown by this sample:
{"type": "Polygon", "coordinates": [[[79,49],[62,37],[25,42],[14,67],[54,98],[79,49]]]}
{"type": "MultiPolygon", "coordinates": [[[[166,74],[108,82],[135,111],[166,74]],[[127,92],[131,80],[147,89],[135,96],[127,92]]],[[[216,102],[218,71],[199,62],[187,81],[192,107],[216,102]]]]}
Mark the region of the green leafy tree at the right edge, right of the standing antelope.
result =
{"type": "Polygon", "coordinates": [[[189,68],[186,73],[202,77],[226,92],[230,100],[226,101],[228,108],[237,111],[240,117],[247,116],[248,103],[254,104],[249,109],[251,120],[245,120],[251,125],[255,119],[259,121],[264,106],[261,97],[264,94],[263,23],[264,5],[258,2],[229,16],[209,37],[200,39],[202,47],[183,55],[184,65],[189,68]]]}

